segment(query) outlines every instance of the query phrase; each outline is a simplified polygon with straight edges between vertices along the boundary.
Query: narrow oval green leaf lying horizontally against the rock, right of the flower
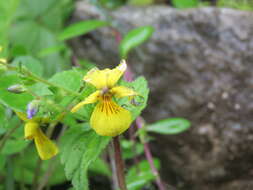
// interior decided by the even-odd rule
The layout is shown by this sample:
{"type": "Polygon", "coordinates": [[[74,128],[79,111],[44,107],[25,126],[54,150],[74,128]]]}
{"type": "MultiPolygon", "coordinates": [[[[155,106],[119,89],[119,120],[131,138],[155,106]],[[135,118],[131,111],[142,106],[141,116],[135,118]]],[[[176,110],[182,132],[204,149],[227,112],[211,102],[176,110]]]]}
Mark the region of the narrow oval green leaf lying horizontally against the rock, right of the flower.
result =
{"type": "Polygon", "coordinates": [[[147,125],[146,129],[150,132],[160,133],[164,135],[173,135],[187,130],[190,126],[191,123],[186,119],[169,118],[147,125]]]}

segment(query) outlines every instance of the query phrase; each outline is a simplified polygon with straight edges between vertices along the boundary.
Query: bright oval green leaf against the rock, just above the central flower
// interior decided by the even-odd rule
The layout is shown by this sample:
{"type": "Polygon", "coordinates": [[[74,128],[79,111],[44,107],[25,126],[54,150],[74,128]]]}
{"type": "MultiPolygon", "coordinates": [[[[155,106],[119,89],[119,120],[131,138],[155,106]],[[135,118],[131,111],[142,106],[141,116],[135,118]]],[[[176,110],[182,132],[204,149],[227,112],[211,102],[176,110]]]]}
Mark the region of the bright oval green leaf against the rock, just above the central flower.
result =
{"type": "Polygon", "coordinates": [[[153,32],[152,26],[142,26],[128,32],[119,46],[121,58],[126,59],[128,52],[148,40],[153,32]]]}

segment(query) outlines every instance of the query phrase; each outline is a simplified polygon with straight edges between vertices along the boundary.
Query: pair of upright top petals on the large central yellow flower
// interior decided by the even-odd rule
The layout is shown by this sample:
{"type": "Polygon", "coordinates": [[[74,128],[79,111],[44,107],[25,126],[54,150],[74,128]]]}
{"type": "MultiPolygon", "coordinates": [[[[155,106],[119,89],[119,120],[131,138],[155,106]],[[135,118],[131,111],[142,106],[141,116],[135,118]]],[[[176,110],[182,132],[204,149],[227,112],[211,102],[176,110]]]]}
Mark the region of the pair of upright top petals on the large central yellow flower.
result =
{"type": "Polygon", "coordinates": [[[83,80],[94,85],[97,89],[111,88],[118,82],[126,68],[126,62],[123,60],[114,69],[92,69],[84,76],[83,80]]]}

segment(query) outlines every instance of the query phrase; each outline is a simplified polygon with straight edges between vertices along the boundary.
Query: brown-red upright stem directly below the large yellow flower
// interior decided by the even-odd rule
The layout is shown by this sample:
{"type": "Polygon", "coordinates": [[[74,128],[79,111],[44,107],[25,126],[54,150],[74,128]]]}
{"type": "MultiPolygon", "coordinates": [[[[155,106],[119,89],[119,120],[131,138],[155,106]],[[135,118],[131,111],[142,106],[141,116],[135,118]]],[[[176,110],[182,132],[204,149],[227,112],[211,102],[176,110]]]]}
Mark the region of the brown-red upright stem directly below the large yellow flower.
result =
{"type": "Polygon", "coordinates": [[[116,165],[119,188],[120,190],[127,190],[125,175],[124,175],[124,162],[121,157],[119,136],[113,137],[113,147],[114,147],[114,157],[115,157],[115,165],[116,165]]]}

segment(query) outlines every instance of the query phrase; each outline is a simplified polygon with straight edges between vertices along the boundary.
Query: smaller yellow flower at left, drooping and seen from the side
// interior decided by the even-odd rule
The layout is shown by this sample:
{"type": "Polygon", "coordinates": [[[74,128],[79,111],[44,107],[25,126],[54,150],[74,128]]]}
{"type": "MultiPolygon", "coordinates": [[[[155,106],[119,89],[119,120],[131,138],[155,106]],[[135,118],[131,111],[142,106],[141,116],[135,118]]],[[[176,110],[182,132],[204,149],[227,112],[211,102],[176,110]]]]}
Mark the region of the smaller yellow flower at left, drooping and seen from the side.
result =
{"type": "Polygon", "coordinates": [[[42,160],[48,160],[59,152],[57,146],[40,129],[39,120],[41,119],[28,119],[21,112],[16,112],[16,114],[25,122],[25,139],[34,140],[38,154],[42,160]]]}

